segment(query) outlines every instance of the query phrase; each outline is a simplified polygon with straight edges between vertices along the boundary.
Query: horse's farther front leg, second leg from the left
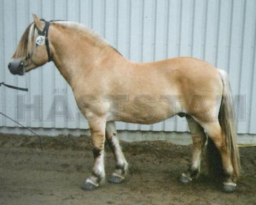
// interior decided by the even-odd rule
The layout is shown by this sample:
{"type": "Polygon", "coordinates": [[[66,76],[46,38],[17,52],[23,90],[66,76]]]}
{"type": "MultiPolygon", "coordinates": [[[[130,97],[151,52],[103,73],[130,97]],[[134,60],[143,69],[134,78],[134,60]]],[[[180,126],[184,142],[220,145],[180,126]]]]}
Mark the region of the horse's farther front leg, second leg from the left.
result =
{"type": "Polygon", "coordinates": [[[116,167],[108,182],[112,184],[119,184],[124,181],[125,175],[128,171],[128,163],[125,160],[121,146],[119,145],[118,137],[116,136],[116,126],[114,122],[107,122],[106,125],[106,138],[113,152],[116,167]]]}

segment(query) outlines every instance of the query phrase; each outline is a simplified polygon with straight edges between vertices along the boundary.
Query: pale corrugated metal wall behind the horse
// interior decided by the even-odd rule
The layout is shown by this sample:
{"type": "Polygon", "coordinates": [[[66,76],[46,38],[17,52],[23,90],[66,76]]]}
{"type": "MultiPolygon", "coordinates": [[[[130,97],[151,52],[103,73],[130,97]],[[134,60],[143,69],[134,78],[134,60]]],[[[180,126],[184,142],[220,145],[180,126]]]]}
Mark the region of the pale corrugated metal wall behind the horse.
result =
{"type": "MultiPolygon", "coordinates": [[[[32,13],[46,20],[77,21],[101,33],[132,61],[193,56],[226,70],[238,133],[256,134],[255,11],[255,0],[0,0],[0,82],[25,86],[25,77],[11,75],[7,64],[32,13]]],[[[88,128],[54,64],[31,71],[26,79],[26,94],[0,88],[1,112],[35,128],[88,128]]],[[[17,124],[0,116],[0,126],[17,124]]],[[[179,117],[154,125],[119,122],[117,128],[188,130],[179,117]]]]}

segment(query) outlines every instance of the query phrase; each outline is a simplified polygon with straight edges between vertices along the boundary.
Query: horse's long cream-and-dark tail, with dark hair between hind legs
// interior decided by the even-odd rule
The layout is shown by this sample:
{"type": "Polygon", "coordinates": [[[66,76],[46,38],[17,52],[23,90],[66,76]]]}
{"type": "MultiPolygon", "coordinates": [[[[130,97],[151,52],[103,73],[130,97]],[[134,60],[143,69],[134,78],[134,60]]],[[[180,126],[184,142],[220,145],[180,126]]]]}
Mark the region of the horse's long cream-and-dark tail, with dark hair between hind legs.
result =
{"type": "MultiPolygon", "coordinates": [[[[220,77],[223,83],[223,94],[222,101],[220,105],[220,111],[218,115],[218,120],[220,122],[220,127],[224,134],[224,143],[227,146],[228,153],[233,166],[233,180],[236,181],[239,176],[240,170],[240,160],[239,160],[239,152],[236,143],[236,129],[235,129],[235,114],[233,109],[233,99],[231,94],[231,89],[229,85],[229,79],[227,77],[227,73],[224,70],[219,70],[220,77]]],[[[214,158],[214,161],[209,161],[210,171],[215,173],[223,173],[222,163],[217,163],[217,161],[221,162],[220,154],[216,151],[213,141],[208,138],[208,153],[211,153],[211,158],[214,158]],[[215,153],[217,156],[214,157],[212,154],[215,153]]]]}

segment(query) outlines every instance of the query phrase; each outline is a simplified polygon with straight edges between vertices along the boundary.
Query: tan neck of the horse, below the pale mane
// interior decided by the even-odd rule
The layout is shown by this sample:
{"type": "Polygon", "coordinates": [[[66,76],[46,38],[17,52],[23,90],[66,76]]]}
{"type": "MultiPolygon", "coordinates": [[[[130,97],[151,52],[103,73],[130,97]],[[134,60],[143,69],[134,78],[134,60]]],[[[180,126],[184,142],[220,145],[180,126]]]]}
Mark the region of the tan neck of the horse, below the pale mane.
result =
{"type": "Polygon", "coordinates": [[[107,58],[113,52],[107,45],[95,46],[79,37],[74,33],[65,34],[58,30],[51,36],[54,63],[71,87],[74,82],[97,67],[96,64],[101,59],[107,58]]]}

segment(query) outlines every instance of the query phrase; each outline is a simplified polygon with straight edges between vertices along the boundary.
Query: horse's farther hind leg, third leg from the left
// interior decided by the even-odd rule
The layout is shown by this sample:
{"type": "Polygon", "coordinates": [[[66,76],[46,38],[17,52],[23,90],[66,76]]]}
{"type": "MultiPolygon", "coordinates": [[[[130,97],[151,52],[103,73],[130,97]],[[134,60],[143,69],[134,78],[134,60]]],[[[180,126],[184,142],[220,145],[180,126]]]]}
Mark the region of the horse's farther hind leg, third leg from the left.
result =
{"type": "Polygon", "coordinates": [[[191,164],[185,173],[182,173],[180,181],[182,183],[191,182],[193,178],[199,173],[202,150],[205,145],[206,135],[202,126],[199,125],[191,116],[186,116],[188,120],[188,127],[191,132],[191,137],[193,141],[193,152],[191,158],[191,164]]]}

